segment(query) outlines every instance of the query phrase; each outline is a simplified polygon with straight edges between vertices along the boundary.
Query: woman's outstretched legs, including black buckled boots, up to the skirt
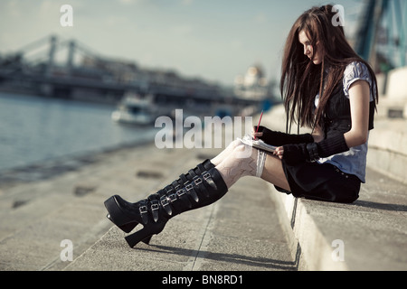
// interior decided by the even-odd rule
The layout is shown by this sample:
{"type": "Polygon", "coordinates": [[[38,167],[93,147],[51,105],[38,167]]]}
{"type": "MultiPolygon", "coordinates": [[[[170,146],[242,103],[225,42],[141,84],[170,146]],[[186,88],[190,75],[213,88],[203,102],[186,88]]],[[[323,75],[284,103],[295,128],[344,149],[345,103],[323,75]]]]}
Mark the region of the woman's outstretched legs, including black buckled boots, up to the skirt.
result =
{"type": "Polygon", "coordinates": [[[127,233],[141,223],[143,228],[128,235],[126,240],[130,247],[140,241],[148,244],[151,236],[160,233],[169,219],[221,199],[232,184],[245,175],[258,176],[289,189],[279,158],[234,141],[213,163],[207,160],[198,164],[147,199],[131,203],[118,195],[110,197],[105,201],[108,218],[127,233]]]}

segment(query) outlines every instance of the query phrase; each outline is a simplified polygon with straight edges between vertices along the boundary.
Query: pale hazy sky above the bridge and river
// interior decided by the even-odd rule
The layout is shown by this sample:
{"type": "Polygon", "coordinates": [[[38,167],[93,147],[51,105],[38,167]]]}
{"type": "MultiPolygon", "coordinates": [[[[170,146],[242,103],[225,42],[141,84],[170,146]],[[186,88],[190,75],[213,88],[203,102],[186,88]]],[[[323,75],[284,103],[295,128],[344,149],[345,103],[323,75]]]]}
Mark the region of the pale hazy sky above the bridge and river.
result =
{"type": "Polygon", "coordinates": [[[232,85],[252,65],[279,79],[291,25],[311,6],[345,8],[352,35],[362,0],[2,0],[0,55],[47,35],[75,39],[92,51],[146,69],[232,85]],[[63,27],[62,5],[73,26],[63,27]]]}

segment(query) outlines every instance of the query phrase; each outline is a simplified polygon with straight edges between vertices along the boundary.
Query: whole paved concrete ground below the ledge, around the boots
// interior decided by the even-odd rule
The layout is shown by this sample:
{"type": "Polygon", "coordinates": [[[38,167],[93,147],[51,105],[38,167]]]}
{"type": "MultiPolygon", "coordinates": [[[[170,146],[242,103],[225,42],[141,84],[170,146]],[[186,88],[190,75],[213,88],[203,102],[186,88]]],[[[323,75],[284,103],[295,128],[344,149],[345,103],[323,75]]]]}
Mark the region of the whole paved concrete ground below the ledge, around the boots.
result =
{"type": "Polygon", "coordinates": [[[127,148],[50,180],[3,189],[1,269],[294,269],[267,185],[255,179],[241,180],[214,206],[172,219],[151,246],[129,248],[106,219],[103,201],[111,194],[144,198],[215,151],[127,148]],[[63,239],[73,243],[73,262],[61,260],[63,239]]]}

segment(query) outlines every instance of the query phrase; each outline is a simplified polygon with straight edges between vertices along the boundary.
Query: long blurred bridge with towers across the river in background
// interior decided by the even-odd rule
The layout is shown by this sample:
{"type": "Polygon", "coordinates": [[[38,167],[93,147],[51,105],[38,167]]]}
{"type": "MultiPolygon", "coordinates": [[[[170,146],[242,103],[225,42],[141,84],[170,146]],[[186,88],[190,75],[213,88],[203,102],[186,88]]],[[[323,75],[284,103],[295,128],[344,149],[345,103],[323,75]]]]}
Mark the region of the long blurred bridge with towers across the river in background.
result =
{"type": "MultiPolygon", "coordinates": [[[[128,92],[153,96],[156,103],[259,107],[261,98],[240,98],[232,89],[204,79],[180,77],[175,71],[141,69],[134,61],[101,56],[86,44],[56,35],[26,44],[0,57],[0,89],[52,98],[117,103],[128,92]]],[[[259,108],[257,108],[259,109],[259,108]]]]}

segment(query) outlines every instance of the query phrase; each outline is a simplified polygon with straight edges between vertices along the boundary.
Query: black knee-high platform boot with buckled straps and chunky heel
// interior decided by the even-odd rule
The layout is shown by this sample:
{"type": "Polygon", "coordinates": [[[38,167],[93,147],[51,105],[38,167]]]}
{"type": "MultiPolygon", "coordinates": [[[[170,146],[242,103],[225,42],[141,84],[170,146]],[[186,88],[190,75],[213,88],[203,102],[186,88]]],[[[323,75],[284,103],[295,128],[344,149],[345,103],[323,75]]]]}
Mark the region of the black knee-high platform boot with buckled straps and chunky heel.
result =
{"type": "Polygon", "coordinates": [[[105,206],[108,218],[123,231],[129,233],[138,224],[143,225],[126,237],[128,245],[134,247],[140,241],[148,244],[153,235],[165,228],[169,219],[187,210],[210,205],[227,191],[221,174],[206,160],[147,199],[132,203],[114,195],[105,201],[105,206]]]}

